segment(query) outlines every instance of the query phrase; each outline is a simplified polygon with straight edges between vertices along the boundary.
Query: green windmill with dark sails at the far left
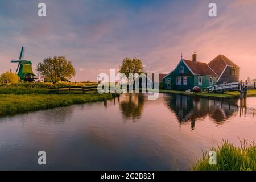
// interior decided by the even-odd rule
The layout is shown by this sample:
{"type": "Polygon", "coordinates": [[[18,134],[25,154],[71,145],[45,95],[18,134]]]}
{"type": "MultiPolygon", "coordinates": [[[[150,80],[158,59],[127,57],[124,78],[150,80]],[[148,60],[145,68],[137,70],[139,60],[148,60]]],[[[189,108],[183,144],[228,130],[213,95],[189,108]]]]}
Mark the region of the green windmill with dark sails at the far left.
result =
{"type": "Polygon", "coordinates": [[[23,60],[25,53],[25,47],[22,46],[20,51],[19,59],[18,60],[11,60],[11,63],[18,63],[18,67],[16,69],[16,74],[18,72],[18,76],[20,80],[24,81],[35,81],[38,77],[33,73],[32,70],[32,63],[29,60],[23,60]]]}

